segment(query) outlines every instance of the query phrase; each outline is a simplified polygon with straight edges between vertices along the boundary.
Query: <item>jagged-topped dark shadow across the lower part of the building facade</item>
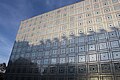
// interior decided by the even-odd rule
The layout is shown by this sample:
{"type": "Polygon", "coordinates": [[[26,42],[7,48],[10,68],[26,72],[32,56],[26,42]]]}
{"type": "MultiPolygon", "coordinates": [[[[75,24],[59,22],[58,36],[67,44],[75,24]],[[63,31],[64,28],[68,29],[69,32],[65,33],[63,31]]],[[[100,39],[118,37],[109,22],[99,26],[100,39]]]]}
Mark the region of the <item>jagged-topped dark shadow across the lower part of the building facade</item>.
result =
{"type": "Polygon", "coordinates": [[[62,41],[55,38],[53,41],[40,41],[40,45],[29,45],[27,41],[15,42],[6,71],[6,80],[119,80],[118,60],[90,61],[86,57],[88,61],[79,62],[78,59],[79,55],[119,51],[120,47],[116,46],[117,44],[113,47],[103,45],[101,49],[98,46],[100,43],[111,44],[110,42],[119,40],[120,31],[117,28],[111,29],[111,32],[90,31],[89,35],[70,34],[70,39],[63,35],[62,41]],[[60,58],[63,57],[66,62],[60,63],[60,58]],[[52,58],[57,59],[55,64],[54,61],[51,62],[52,58]]]}

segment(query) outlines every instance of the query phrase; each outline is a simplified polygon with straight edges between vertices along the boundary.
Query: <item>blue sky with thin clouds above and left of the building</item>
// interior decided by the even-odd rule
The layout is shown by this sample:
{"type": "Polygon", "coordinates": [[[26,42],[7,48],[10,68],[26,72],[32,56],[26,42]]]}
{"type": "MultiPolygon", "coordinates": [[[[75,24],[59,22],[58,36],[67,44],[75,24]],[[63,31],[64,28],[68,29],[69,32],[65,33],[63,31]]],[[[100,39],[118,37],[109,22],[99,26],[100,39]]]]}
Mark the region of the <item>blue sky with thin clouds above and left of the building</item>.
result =
{"type": "Polygon", "coordinates": [[[80,0],[0,0],[0,63],[8,63],[20,21],[80,0]]]}

